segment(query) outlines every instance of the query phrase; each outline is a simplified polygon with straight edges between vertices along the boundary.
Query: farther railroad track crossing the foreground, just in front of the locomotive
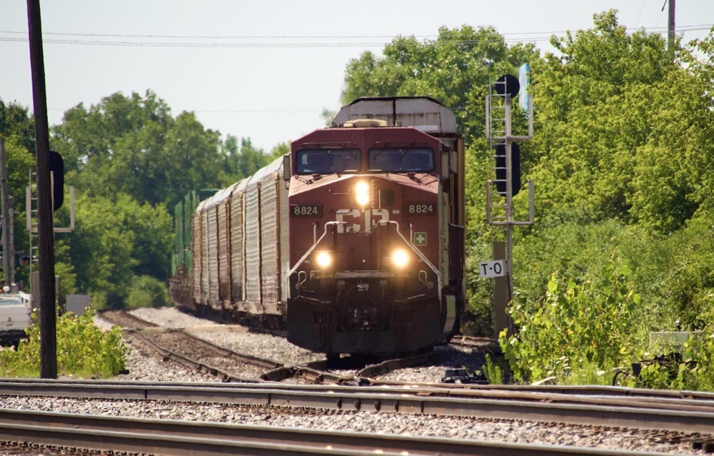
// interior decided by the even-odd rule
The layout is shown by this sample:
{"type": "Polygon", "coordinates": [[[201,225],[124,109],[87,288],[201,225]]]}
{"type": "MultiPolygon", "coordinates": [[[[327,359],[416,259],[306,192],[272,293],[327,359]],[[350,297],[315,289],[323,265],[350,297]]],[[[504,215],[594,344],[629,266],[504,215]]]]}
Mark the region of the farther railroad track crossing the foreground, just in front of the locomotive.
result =
{"type": "Polygon", "coordinates": [[[214,402],[251,407],[478,417],[686,434],[698,432],[703,435],[704,442],[714,440],[714,400],[711,398],[666,400],[649,397],[649,400],[643,400],[638,396],[553,393],[533,393],[524,398],[522,393],[485,393],[462,388],[0,379],[0,395],[11,396],[214,402]]]}

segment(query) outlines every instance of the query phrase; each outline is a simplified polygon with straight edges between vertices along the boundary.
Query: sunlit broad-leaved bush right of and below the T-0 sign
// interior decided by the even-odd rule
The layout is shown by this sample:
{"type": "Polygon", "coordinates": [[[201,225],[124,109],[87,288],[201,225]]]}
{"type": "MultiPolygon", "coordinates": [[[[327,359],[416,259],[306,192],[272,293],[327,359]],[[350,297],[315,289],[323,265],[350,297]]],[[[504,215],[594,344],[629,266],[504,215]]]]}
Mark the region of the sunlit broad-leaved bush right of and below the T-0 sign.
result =
{"type": "MultiPolygon", "coordinates": [[[[536,381],[554,376],[564,382],[578,375],[606,372],[631,359],[633,310],[640,295],[628,283],[632,271],[610,259],[598,285],[577,284],[554,273],[535,312],[523,305],[511,311],[517,335],[501,332],[499,343],[513,378],[536,381]]],[[[597,375],[586,375],[588,382],[597,375]]],[[[609,379],[608,379],[609,380],[609,379]]]]}

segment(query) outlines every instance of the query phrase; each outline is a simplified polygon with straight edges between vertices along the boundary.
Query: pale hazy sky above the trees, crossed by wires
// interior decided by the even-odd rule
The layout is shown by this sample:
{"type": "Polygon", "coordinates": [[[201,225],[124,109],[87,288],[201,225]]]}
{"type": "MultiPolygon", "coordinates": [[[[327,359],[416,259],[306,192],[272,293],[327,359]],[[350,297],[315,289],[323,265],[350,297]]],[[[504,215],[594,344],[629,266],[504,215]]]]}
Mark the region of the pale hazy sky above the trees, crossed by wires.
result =
{"type": "MultiPolygon", "coordinates": [[[[394,36],[435,38],[440,26],[495,26],[508,41],[548,49],[551,34],[588,29],[618,9],[620,24],[664,32],[665,0],[41,1],[49,122],[121,91],[151,89],[174,116],[194,111],[223,136],[269,151],[321,128],[336,110],[346,64],[394,36]],[[537,41],[536,41],[537,40],[537,41]]],[[[713,0],[678,0],[685,40],[706,36],[713,0]],[[697,27],[698,26],[698,27],[697,27]]],[[[32,110],[26,2],[0,4],[0,98],[32,110]]]]}

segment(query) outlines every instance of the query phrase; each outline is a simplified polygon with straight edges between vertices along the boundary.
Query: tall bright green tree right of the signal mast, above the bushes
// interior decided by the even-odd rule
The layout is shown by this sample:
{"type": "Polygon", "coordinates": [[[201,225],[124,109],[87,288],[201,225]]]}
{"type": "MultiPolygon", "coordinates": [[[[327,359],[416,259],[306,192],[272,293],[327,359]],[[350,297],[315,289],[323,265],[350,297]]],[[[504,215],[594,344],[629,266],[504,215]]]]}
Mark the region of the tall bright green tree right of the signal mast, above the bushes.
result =
{"type": "Polygon", "coordinates": [[[714,132],[703,81],[685,65],[693,56],[657,34],[627,34],[615,11],[551,42],[561,55],[533,66],[540,208],[584,204],[600,220],[682,226],[712,171],[696,153],[714,132]]]}

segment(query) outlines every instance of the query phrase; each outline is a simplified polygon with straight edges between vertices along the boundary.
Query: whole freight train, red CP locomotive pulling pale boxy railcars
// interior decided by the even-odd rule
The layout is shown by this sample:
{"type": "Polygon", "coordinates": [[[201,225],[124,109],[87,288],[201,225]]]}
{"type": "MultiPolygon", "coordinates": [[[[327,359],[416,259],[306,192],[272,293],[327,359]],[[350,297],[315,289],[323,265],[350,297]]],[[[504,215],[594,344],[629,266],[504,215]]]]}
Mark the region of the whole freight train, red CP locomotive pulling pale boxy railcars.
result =
{"type": "Polygon", "coordinates": [[[177,305],[340,353],[415,353],[465,304],[464,148],[427,97],[358,98],[330,127],[176,206],[177,305]]]}

